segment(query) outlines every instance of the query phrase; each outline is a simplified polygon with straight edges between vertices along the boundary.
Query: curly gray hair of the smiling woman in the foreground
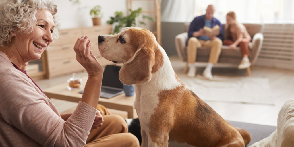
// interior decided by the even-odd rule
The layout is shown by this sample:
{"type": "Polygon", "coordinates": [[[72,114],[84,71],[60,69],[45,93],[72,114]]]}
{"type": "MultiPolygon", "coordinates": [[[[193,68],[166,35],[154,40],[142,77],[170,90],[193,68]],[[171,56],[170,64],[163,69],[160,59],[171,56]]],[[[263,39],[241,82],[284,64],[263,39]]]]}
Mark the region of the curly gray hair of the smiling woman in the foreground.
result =
{"type": "Polygon", "coordinates": [[[53,15],[53,40],[58,39],[57,5],[47,0],[4,0],[0,2],[0,47],[11,45],[13,34],[30,33],[37,24],[37,10],[48,9],[53,15]]]}

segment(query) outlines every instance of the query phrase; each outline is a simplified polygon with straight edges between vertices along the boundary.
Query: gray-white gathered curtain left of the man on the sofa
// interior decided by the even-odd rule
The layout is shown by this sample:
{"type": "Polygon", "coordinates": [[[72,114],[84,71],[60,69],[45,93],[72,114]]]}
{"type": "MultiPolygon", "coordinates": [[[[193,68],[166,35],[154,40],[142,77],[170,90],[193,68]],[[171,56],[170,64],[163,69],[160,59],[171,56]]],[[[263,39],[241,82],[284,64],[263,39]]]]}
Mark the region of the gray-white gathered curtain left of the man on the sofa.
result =
{"type": "Polygon", "coordinates": [[[191,22],[194,19],[195,0],[162,0],[161,21],[191,22]]]}

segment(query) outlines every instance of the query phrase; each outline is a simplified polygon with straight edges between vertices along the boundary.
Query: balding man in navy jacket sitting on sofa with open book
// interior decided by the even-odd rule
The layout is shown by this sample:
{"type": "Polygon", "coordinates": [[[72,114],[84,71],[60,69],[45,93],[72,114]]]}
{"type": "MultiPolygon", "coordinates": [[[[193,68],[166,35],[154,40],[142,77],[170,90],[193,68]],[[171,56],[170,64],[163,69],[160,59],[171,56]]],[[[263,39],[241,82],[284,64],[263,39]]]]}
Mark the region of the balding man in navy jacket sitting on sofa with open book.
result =
{"type": "Polygon", "coordinates": [[[201,46],[211,47],[208,65],[203,71],[203,76],[207,79],[212,79],[213,76],[211,74],[211,69],[214,64],[218,62],[218,57],[220,55],[223,37],[222,24],[219,20],[213,17],[215,9],[213,5],[208,5],[206,9],[206,14],[195,17],[195,19],[191,22],[189,31],[188,31],[188,46],[187,46],[187,54],[188,54],[188,64],[189,64],[189,72],[188,76],[194,77],[196,73],[195,61],[197,48],[201,46]],[[220,34],[218,36],[208,37],[205,35],[205,31],[203,30],[204,26],[213,28],[213,26],[220,26],[220,34]]]}

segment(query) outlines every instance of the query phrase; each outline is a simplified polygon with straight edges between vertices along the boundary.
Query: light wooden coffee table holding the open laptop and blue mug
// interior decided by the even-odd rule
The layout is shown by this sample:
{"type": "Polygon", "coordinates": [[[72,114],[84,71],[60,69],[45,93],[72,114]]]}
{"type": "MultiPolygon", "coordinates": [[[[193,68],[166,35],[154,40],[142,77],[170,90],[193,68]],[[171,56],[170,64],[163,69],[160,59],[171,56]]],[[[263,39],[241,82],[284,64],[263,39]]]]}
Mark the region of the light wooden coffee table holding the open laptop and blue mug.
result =
{"type": "MultiPolygon", "coordinates": [[[[88,77],[83,77],[83,88],[86,85],[88,77]]],[[[83,90],[83,88],[76,90],[68,90],[67,83],[62,83],[50,88],[43,90],[48,98],[55,98],[64,101],[71,101],[78,103],[81,101],[82,94],[78,91],[83,90]]],[[[125,93],[114,96],[113,98],[99,98],[99,104],[105,106],[106,108],[127,111],[128,118],[137,117],[136,111],[134,110],[133,102],[135,101],[135,94],[133,96],[126,96],[125,93]]]]}

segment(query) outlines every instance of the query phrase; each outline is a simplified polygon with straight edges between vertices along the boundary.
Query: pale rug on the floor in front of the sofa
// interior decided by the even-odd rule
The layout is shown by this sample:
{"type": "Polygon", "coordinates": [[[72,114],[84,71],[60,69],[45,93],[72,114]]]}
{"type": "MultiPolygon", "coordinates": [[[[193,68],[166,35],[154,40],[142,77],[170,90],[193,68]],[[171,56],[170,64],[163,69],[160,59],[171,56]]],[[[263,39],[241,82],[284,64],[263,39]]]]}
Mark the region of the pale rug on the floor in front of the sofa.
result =
{"type": "Polygon", "coordinates": [[[203,101],[274,105],[268,78],[213,76],[206,80],[197,75],[178,75],[203,101]]]}

